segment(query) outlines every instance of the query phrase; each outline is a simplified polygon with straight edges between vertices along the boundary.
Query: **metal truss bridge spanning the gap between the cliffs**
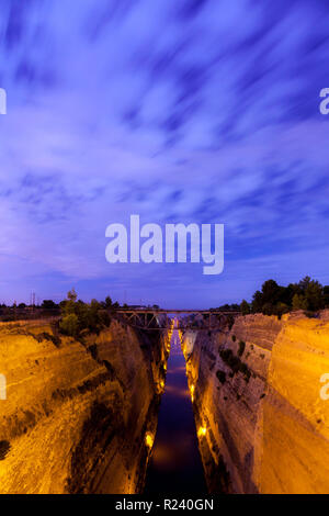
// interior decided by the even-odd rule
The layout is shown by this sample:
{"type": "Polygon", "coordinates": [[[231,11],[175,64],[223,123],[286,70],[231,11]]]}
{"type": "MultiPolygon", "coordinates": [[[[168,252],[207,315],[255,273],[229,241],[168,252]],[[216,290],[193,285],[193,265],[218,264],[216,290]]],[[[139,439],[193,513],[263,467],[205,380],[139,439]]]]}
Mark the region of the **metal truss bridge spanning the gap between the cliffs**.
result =
{"type": "Polygon", "coordinates": [[[139,329],[219,329],[228,316],[236,317],[240,312],[219,310],[162,310],[162,309],[118,309],[115,311],[129,326],[139,329]]]}

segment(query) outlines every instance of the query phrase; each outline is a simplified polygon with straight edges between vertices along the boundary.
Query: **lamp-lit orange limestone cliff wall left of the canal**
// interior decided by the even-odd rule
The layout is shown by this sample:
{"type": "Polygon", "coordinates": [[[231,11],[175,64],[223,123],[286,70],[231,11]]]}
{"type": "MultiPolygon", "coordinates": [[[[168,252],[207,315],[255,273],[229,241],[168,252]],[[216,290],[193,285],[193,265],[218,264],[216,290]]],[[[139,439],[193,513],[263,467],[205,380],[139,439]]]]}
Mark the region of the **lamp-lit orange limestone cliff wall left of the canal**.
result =
{"type": "Polygon", "coordinates": [[[81,343],[53,329],[0,326],[0,492],[139,492],[169,336],[116,321],[81,343]]]}

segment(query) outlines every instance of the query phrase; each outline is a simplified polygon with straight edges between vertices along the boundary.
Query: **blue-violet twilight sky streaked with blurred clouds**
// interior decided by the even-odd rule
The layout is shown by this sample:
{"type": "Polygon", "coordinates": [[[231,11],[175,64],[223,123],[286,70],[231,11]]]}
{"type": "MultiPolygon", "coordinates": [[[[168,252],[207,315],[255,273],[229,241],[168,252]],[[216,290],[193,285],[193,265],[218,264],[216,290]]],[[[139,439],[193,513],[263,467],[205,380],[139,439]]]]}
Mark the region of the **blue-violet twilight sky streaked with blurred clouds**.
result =
{"type": "Polygon", "coordinates": [[[1,0],[0,302],[329,284],[328,69],[324,0],[1,0]],[[107,263],[135,213],[225,224],[224,272],[107,263]]]}

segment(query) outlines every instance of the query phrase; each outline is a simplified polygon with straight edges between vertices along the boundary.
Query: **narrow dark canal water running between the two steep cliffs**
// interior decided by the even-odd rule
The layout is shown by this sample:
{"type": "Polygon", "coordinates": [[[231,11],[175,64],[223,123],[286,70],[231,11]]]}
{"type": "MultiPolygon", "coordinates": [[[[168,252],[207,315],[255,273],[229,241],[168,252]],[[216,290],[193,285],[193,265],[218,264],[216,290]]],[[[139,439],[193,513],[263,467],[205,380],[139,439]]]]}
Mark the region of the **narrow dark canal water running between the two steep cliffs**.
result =
{"type": "Polygon", "coordinates": [[[166,390],[145,493],[207,493],[178,332],[173,332],[171,339],[166,390]]]}

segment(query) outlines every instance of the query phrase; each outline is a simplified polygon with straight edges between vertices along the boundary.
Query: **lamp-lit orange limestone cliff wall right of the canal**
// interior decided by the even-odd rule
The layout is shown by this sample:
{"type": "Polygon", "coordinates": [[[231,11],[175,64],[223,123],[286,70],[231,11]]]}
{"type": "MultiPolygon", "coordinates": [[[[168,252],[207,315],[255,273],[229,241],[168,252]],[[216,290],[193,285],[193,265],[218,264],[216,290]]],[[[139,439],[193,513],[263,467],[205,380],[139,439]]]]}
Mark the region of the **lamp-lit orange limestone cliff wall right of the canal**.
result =
{"type": "Polygon", "coordinates": [[[211,491],[329,492],[328,312],[239,316],[183,350],[211,491]]]}

